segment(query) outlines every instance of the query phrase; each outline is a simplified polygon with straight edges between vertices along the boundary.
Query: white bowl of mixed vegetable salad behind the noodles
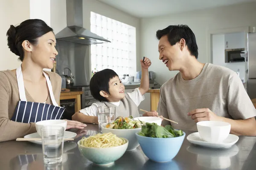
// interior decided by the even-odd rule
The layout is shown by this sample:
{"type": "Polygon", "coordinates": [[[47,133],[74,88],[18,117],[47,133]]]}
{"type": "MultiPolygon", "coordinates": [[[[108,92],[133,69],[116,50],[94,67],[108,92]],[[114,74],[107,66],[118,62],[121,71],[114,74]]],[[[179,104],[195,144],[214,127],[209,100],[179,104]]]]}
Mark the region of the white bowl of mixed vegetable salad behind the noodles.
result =
{"type": "Polygon", "coordinates": [[[118,137],[128,139],[128,147],[126,151],[135,150],[140,144],[136,138],[136,133],[141,131],[141,127],[145,122],[133,120],[132,116],[119,116],[114,122],[102,124],[102,133],[113,133],[118,137]]]}

